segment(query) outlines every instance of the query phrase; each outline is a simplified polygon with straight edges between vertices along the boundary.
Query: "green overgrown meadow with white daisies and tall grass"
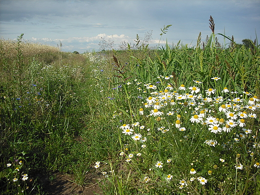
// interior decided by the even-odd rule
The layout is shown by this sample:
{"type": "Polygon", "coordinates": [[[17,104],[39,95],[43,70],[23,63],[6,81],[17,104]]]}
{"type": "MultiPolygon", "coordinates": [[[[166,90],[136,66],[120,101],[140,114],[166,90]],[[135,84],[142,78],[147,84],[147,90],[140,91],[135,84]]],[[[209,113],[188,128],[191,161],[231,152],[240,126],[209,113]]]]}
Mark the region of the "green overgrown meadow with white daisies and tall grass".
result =
{"type": "Polygon", "coordinates": [[[46,194],[40,175],[61,172],[102,194],[259,194],[259,45],[220,36],[83,54],[1,40],[1,193],[46,194]]]}

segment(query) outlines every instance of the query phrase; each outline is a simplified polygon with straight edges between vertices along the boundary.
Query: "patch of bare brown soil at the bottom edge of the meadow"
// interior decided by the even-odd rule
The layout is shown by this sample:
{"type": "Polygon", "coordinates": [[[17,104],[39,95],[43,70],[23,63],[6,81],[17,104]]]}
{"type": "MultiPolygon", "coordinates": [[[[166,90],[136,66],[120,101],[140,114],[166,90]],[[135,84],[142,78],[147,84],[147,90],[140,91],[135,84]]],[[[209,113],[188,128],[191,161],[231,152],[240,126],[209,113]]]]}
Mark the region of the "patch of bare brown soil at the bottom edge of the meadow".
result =
{"type": "Polygon", "coordinates": [[[80,186],[73,182],[73,176],[69,174],[55,173],[53,179],[47,176],[40,178],[42,182],[43,191],[48,195],[96,195],[103,194],[98,183],[92,179],[88,184],[80,186]]]}

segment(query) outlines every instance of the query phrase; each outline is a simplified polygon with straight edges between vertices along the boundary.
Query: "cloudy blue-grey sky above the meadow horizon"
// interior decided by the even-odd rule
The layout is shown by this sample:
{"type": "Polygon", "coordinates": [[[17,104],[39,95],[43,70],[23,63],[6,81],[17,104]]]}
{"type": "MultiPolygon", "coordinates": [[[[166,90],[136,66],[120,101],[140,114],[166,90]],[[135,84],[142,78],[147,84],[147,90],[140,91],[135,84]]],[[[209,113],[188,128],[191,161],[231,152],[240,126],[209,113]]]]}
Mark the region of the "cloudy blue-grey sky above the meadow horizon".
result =
{"type": "MultiPolygon", "coordinates": [[[[0,0],[0,38],[15,40],[23,33],[25,41],[61,42],[61,50],[80,53],[133,45],[136,34],[149,46],[166,40],[194,46],[199,32],[202,41],[210,35],[211,15],[215,33],[242,43],[260,37],[259,10],[260,0],[0,0]],[[166,25],[171,26],[160,36],[166,25]]],[[[216,36],[223,45],[229,42],[216,36]]]]}

